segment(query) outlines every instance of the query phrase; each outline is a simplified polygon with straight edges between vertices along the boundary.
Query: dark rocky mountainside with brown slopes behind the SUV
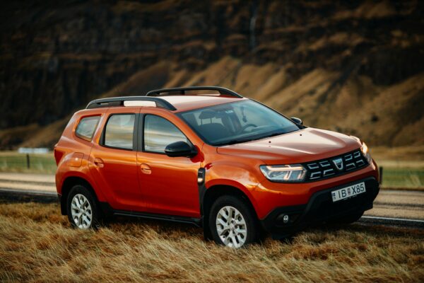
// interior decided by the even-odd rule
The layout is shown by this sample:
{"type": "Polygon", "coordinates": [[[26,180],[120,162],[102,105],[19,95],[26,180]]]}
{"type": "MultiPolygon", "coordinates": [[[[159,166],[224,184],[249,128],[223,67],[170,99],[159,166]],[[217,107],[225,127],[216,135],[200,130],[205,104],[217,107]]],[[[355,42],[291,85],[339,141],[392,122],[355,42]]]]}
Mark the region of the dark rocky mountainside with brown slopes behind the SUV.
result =
{"type": "Polygon", "coordinates": [[[57,121],[107,91],[183,84],[232,87],[374,144],[424,142],[413,131],[423,125],[423,1],[2,6],[0,148],[28,143],[28,131],[48,125],[56,130],[33,145],[52,146],[64,125],[57,121]],[[387,123],[391,131],[374,130],[387,123]]]}

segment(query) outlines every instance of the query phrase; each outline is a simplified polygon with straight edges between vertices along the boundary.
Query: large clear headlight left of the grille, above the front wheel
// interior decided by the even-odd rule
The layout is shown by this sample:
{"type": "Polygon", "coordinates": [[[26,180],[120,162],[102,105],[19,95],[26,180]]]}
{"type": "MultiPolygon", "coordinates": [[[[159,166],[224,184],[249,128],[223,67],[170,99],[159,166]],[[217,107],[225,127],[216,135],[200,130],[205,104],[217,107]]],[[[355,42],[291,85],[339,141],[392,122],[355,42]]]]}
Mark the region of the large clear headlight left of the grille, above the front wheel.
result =
{"type": "Polygon", "coordinates": [[[305,179],[306,170],[300,164],[292,165],[261,165],[262,173],[273,182],[302,182],[305,179]]]}

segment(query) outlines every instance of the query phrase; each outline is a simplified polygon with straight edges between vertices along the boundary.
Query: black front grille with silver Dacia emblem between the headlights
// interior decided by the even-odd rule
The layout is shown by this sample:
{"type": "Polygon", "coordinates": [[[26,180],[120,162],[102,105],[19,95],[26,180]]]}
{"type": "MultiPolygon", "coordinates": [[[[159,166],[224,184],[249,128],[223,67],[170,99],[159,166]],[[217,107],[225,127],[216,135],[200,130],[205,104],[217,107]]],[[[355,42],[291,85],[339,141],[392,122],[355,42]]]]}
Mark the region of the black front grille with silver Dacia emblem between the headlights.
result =
{"type": "Polygon", "coordinates": [[[308,162],[302,165],[307,169],[306,180],[315,181],[356,171],[367,166],[367,164],[363,154],[357,149],[347,154],[308,162]]]}

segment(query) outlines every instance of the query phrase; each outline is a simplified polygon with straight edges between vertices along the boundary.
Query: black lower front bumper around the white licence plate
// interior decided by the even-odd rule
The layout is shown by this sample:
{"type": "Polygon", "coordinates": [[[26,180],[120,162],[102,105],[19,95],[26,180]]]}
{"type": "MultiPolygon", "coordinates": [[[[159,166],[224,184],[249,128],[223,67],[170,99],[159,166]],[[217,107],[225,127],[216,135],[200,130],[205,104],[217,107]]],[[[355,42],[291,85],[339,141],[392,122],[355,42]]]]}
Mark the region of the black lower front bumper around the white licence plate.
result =
{"type": "Polygon", "coordinates": [[[271,233],[273,238],[286,238],[312,224],[319,224],[355,212],[364,212],[365,210],[372,209],[372,202],[377,197],[378,192],[379,183],[374,177],[344,183],[343,185],[315,192],[307,204],[277,207],[264,219],[261,219],[261,224],[266,231],[271,233]],[[346,200],[333,202],[331,191],[360,182],[365,182],[366,192],[346,200]],[[283,223],[282,216],[284,214],[289,216],[287,224],[283,223]]]}

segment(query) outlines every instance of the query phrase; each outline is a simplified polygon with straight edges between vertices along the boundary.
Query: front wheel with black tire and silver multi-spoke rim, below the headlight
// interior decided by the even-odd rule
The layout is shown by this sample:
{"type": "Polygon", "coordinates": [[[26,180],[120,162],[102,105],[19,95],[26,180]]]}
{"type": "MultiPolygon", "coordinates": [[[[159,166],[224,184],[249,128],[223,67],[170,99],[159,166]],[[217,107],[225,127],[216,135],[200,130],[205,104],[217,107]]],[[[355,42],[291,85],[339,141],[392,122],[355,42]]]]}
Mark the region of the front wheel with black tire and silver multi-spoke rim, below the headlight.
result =
{"type": "Polygon", "coordinates": [[[230,248],[242,248],[259,240],[259,225],[245,200],[232,195],[219,197],[211,207],[209,229],[213,241],[230,248]]]}

